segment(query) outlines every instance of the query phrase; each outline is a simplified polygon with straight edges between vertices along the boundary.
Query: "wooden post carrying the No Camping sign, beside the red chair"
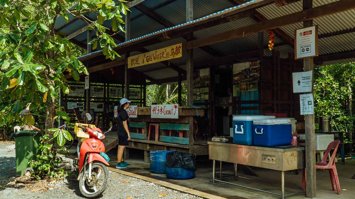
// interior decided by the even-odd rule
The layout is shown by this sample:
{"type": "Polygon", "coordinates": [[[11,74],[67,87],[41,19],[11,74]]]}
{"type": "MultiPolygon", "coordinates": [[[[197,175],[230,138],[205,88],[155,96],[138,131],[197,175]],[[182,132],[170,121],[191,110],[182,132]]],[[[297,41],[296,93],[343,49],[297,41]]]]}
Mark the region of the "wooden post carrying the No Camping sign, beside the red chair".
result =
{"type": "MultiPolygon", "coordinates": [[[[313,7],[313,0],[303,0],[303,10],[313,7]]],[[[313,25],[313,20],[303,22],[303,27],[313,25]]],[[[313,71],[313,57],[303,59],[304,71],[313,71]]],[[[313,77],[313,76],[312,76],[313,77]]],[[[313,95],[312,79],[312,95],[313,95]]],[[[306,133],[306,194],[307,198],[317,197],[316,184],[316,149],[315,149],[315,130],[314,114],[305,115],[305,133],[306,133]]]]}

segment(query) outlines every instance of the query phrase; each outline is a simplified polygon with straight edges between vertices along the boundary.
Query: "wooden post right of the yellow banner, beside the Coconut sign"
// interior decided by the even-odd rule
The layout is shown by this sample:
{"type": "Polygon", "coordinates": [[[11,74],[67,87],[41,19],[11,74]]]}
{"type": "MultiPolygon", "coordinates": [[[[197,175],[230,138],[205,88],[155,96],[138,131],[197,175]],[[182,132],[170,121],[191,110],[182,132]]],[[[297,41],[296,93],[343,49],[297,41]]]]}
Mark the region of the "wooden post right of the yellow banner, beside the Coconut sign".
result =
{"type": "MultiPolygon", "coordinates": [[[[193,0],[186,0],[186,22],[193,20],[193,0]]],[[[193,33],[187,34],[187,40],[193,38],[193,33]]],[[[187,105],[193,105],[193,49],[186,50],[186,80],[187,105]]],[[[189,145],[193,145],[193,116],[189,116],[189,145]]]]}

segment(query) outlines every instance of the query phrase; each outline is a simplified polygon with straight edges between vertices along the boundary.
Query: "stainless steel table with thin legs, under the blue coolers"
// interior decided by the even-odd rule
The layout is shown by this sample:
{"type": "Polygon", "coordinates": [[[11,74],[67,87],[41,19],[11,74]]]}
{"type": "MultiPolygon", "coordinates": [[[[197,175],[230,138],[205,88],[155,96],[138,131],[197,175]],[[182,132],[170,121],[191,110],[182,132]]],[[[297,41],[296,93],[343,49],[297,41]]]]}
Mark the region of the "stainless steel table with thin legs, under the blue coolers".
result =
{"type": "Polygon", "coordinates": [[[227,144],[218,142],[208,142],[209,147],[209,159],[213,160],[213,183],[223,182],[233,184],[236,186],[250,188],[257,191],[271,193],[281,196],[283,199],[285,196],[293,195],[296,193],[305,192],[304,189],[285,186],[285,171],[303,169],[306,167],[305,163],[305,147],[302,146],[281,146],[281,147],[256,147],[246,146],[239,144],[227,144]],[[215,177],[215,161],[220,161],[220,176],[215,177]],[[222,178],[222,161],[234,163],[234,175],[222,178]],[[237,176],[237,164],[243,164],[248,166],[262,167],[266,169],[272,169],[281,171],[281,184],[275,184],[271,182],[264,182],[260,180],[254,180],[251,178],[237,176]],[[227,178],[244,178],[248,180],[274,184],[281,186],[281,194],[269,192],[257,188],[247,187],[240,184],[222,181],[227,178]],[[296,192],[285,194],[285,187],[297,190],[296,192]]]}

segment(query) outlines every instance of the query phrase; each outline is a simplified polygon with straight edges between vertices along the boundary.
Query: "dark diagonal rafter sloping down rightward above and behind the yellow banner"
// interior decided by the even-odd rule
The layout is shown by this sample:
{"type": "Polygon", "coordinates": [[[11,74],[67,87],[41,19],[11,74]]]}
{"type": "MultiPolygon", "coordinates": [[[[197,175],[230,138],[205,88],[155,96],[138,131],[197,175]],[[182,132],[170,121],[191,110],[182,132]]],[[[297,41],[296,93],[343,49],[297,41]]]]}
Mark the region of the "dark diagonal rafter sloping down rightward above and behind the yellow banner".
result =
{"type": "MultiPolygon", "coordinates": [[[[175,24],[171,23],[170,21],[165,19],[163,16],[159,15],[158,13],[154,12],[151,8],[149,8],[143,4],[137,5],[136,8],[138,10],[140,10],[142,13],[146,14],[151,19],[153,19],[154,21],[162,24],[165,28],[175,26],[175,24]]],[[[183,36],[183,37],[185,38],[185,36],[183,36]]],[[[192,37],[192,39],[195,40],[197,38],[192,37]]],[[[222,53],[218,52],[217,50],[215,50],[209,46],[203,46],[203,47],[201,47],[201,49],[208,52],[209,54],[211,54],[213,56],[221,56],[222,55],[222,53]]]]}

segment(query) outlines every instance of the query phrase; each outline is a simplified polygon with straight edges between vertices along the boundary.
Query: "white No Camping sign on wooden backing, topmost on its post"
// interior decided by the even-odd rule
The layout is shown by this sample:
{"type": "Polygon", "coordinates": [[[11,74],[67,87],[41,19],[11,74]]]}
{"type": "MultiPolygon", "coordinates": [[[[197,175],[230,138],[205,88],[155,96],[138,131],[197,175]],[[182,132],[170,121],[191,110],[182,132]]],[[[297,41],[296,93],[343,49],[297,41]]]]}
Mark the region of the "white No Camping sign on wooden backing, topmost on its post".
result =
{"type": "Polygon", "coordinates": [[[318,56],[318,25],[295,30],[295,59],[318,56]]]}

